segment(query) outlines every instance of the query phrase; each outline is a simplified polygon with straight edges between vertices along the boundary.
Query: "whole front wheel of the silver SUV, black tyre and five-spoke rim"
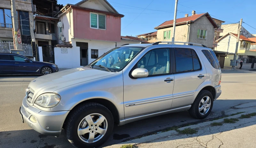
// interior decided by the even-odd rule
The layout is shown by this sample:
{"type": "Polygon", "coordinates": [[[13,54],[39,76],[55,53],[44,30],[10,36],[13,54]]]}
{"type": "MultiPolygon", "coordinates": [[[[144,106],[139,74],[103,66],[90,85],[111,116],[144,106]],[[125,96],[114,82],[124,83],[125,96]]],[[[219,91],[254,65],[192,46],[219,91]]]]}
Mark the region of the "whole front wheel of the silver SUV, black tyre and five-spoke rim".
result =
{"type": "Polygon", "coordinates": [[[95,148],[108,140],[113,127],[114,119],[111,112],[99,103],[90,102],[79,105],[71,112],[66,122],[65,131],[68,141],[73,146],[78,148],[95,148]],[[89,118],[89,116],[91,116],[91,118],[89,118]],[[98,118],[98,116],[100,118],[98,118]],[[102,116],[104,118],[102,118],[102,116]],[[97,123],[100,123],[102,120],[104,121],[100,125],[97,125],[97,123]],[[93,124],[93,126],[90,126],[88,123],[93,124]],[[104,133],[102,129],[106,129],[103,136],[97,133],[97,131],[104,133]],[[81,130],[81,133],[79,133],[78,130],[81,130]],[[83,132],[83,130],[86,131],[83,132]],[[79,135],[82,133],[85,134],[79,135]],[[93,141],[90,140],[91,134],[94,135],[93,141]]]}

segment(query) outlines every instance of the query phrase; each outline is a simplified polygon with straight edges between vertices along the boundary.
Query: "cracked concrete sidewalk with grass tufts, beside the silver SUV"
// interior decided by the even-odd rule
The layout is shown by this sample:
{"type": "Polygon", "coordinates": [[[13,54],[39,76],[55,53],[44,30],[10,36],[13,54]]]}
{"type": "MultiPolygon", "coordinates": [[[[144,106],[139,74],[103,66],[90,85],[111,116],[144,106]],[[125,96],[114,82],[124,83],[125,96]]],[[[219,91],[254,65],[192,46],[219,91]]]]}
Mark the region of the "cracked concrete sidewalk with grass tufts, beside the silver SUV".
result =
{"type": "Polygon", "coordinates": [[[255,148],[256,102],[237,105],[225,115],[105,148],[255,148]]]}

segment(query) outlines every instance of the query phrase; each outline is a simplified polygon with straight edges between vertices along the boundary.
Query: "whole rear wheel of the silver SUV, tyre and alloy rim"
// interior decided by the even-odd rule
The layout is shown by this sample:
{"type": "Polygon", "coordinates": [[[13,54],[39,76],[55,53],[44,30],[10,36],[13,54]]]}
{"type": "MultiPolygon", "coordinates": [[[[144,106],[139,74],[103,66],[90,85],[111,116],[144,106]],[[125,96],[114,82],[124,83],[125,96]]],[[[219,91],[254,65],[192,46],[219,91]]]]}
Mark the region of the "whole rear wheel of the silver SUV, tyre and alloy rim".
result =
{"type": "Polygon", "coordinates": [[[213,97],[211,92],[208,90],[201,90],[196,96],[196,99],[194,103],[191,105],[191,108],[188,110],[188,112],[192,117],[196,119],[204,119],[212,111],[212,106],[213,106],[213,97]],[[209,98],[208,102],[207,102],[207,98],[209,98]],[[205,104],[201,102],[203,99],[205,104]],[[204,113],[204,110],[206,110],[205,113],[204,113]]]}

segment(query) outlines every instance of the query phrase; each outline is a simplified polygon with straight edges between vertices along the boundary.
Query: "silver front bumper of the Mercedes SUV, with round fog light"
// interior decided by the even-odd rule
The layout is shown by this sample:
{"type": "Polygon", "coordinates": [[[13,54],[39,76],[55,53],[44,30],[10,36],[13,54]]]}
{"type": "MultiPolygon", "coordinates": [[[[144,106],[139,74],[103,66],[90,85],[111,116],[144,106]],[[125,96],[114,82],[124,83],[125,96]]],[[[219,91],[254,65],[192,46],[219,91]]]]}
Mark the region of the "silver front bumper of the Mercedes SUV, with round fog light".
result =
{"type": "Polygon", "coordinates": [[[68,113],[69,111],[43,111],[33,105],[29,106],[26,97],[23,98],[20,107],[21,118],[24,122],[37,132],[49,136],[60,136],[68,113]],[[36,118],[36,123],[32,122],[31,116],[36,118]]]}

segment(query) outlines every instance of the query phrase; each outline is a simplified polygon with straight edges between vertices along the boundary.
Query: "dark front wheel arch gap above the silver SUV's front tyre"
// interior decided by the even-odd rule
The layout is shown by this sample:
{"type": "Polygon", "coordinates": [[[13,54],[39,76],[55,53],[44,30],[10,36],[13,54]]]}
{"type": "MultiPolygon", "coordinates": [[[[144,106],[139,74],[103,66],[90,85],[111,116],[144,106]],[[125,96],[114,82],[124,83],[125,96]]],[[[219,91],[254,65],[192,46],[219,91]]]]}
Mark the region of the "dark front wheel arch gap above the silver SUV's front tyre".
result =
{"type": "Polygon", "coordinates": [[[66,121],[68,120],[69,115],[71,115],[71,114],[73,113],[72,111],[75,110],[77,107],[79,107],[81,104],[83,104],[83,103],[88,103],[88,102],[99,103],[99,104],[105,106],[106,108],[108,108],[108,110],[111,112],[111,114],[112,114],[112,116],[113,116],[113,118],[114,118],[114,122],[117,123],[117,124],[119,123],[119,113],[118,113],[118,110],[117,110],[116,106],[115,106],[112,102],[110,102],[110,101],[107,100],[107,99],[92,98],[92,99],[84,100],[84,101],[82,101],[82,102],[76,104],[76,106],[74,106],[74,107],[70,110],[70,112],[68,113],[68,116],[66,116],[66,119],[65,119],[65,121],[64,121],[63,128],[65,128],[65,123],[66,123],[66,121]]]}

